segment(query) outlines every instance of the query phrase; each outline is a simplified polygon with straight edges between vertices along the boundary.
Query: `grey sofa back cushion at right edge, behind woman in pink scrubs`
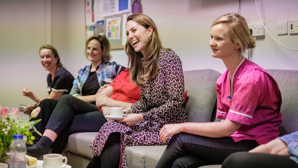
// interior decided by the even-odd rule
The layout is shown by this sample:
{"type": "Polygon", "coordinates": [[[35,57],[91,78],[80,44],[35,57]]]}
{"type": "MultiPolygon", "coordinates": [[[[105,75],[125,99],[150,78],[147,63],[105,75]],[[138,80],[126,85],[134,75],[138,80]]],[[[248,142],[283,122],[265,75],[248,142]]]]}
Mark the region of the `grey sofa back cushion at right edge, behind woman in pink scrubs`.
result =
{"type": "Polygon", "coordinates": [[[267,69],[282,93],[282,124],[279,136],[298,131],[298,71],[267,69]]]}

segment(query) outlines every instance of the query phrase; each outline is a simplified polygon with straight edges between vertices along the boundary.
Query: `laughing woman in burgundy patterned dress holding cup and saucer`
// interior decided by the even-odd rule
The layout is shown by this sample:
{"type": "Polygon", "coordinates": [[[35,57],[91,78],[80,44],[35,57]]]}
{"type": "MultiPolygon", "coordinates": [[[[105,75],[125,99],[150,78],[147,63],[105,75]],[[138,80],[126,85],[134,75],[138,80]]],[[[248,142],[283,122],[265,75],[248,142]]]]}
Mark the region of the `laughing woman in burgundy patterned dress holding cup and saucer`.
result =
{"type": "Polygon", "coordinates": [[[90,147],[87,167],[127,167],[125,147],[165,145],[159,130],[165,124],[186,120],[184,77],[180,58],[162,47],[152,19],[144,14],[127,18],[126,35],[130,79],[140,86],[141,99],[126,110],[127,118],[105,123],[90,147]]]}

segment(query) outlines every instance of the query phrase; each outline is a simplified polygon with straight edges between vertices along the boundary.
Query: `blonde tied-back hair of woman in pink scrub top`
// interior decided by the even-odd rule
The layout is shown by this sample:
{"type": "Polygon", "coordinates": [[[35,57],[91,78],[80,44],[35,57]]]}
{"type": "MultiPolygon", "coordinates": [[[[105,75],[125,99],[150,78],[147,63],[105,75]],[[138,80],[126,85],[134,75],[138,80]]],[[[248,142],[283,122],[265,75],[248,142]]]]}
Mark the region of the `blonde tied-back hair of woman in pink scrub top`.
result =
{"type": "Polygon", "coordinates": [[[229,35],[232,42],[238,43],[240,48],[238,54],[242,55],[247,48],[256,47],[256,39],[250,35],[247,22],[244,17],[237,13],[227,13],[217,18],[211,28],[218,23],[225,23],[229,27],[229,35]]]}

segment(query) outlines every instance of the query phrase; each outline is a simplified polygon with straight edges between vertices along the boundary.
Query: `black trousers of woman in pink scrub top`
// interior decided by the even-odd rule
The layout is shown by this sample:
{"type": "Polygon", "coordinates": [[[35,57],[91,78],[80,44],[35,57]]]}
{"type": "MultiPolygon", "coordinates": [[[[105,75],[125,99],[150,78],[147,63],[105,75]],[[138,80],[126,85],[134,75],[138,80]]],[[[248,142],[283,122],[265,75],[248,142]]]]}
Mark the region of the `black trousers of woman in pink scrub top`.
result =
{"type": "Polygon", "coordinates": [[[188,133],[173,136],[156,167],[199,167],[221,164],[230,154],[249,151],[259,144],[255,140],[234,142],[231,137],[209,138],[188,133]]]}

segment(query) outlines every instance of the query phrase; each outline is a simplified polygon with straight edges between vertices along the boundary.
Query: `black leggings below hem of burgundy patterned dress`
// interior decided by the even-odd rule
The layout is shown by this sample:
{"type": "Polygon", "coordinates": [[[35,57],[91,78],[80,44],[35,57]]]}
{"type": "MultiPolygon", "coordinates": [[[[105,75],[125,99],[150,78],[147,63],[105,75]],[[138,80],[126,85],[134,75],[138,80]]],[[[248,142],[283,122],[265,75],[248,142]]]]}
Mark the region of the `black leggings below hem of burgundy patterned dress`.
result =
{"type": "Polygon", "coordinates": [[[117,168],[120,164],[120,152],[120,133],[111,133],[100,157],[93,157],[87,168],[117,168]]]}

